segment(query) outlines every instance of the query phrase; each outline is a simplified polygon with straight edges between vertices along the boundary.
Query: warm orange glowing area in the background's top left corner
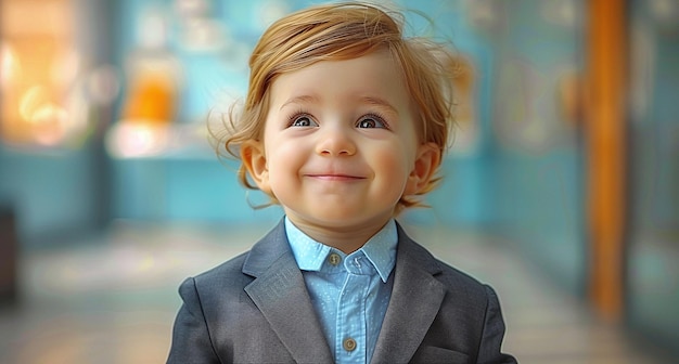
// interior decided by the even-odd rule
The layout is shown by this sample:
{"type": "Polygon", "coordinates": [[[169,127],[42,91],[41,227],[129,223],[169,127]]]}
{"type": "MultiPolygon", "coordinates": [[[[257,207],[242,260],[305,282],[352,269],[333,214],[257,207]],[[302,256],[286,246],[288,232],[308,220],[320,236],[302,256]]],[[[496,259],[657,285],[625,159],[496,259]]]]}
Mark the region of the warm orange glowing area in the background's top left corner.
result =
{"type": "Polygon", "coordinates": [[[2,2],[0,138],[10,144],[69,146],[87,133],[73,10],[72,0],[2,2]]]}

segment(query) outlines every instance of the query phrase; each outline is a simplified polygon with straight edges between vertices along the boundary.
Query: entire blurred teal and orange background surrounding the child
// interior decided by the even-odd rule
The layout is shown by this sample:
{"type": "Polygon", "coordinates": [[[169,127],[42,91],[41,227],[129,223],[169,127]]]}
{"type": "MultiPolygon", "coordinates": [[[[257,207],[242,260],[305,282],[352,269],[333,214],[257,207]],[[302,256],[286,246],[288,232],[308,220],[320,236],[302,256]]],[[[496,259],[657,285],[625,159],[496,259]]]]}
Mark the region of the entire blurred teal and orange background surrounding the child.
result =
{"type": "MultiPolygon", "coordinates": [[[[207,125],[316,2],[0,1],[0,363],[165,361],[179,283],[281,218],[207,125]]],[[[461,70],[445,183],[401,221],[496,287],[505,351],[676,362],[679,1],[382,2],[461,70]]]]}

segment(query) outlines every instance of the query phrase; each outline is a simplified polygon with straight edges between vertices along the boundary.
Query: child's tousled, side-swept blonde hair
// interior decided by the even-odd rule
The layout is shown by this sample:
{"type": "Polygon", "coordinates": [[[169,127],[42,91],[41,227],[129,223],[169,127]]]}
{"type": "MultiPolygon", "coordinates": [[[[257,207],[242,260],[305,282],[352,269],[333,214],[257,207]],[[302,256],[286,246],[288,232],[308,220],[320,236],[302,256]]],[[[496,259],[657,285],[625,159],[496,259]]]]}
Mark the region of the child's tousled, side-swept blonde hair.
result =
{"type": "MultiPolygon", "coordinates": [[[[210,131],[218,154],[240,159],[240,146],[244,142],[262,139],[269,90],[278,76],[321,61],[350,60],[387,50],[401,69],[411,95],[419,142],[435,143],[443,158],[453,123],[453,75],[450,74],[453,56],[441,44],[406,38],[403,24],[398,12],[355,2],[311,6],[273,23],[249,57],[249,87],[242,109],[236,113],[232,106],[225,132],[210,131]]],[[[246,187],[258,190],[242,164],[238,177],[246,187]]],[[[439,181],[440,177],[435,177],[418,195],[431,192],[439,181]]],[[[270,197],[273,204],[278,203],[274,196],[270,197]]],[[[403,196],[395,213],[413,206],[424,205],[403,196]]]]}

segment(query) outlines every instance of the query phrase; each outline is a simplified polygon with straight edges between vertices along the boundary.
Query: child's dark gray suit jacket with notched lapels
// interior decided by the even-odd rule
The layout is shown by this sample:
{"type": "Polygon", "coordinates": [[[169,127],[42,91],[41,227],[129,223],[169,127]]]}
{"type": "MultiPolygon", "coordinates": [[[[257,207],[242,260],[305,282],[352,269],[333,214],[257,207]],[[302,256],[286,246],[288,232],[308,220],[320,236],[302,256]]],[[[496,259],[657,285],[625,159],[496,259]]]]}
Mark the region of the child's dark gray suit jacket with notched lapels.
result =
{"type": "MultiPolygon", "coordinates": [[[[373,363],[515,363],[498,298],[398,226],[392,300],[373,363]]],[[[283,223],[251,251],[184,281],[167,363],[332,363],[283,223]]]]}

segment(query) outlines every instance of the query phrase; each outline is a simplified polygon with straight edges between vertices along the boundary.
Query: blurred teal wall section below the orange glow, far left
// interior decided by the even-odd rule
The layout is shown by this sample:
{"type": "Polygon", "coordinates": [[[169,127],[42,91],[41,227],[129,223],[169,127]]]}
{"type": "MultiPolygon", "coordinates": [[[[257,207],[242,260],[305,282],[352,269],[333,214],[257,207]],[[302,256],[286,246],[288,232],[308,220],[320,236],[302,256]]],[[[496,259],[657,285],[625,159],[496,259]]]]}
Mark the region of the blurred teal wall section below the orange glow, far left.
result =
{"type": "Polygon", "coordinates": [[[101,226],[91,151],[27,152],[0,144],[0,204],[16,218],[26,246],[62,244],[101,226]]]}

